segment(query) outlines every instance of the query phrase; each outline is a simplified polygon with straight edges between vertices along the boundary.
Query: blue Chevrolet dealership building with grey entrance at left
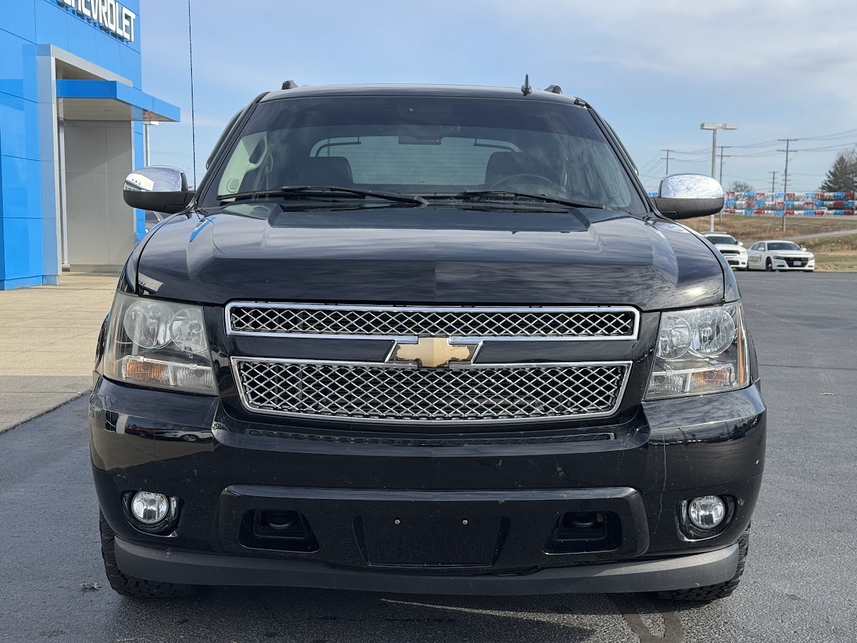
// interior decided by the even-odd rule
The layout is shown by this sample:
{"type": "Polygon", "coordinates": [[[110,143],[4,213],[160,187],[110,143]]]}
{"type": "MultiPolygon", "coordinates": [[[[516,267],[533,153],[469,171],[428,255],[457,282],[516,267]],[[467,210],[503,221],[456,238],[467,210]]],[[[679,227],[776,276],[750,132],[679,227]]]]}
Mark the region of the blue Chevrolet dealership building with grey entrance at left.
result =
{"type": "Polygon", "coordinates": [[[140,0],[0,0],[0,290],[116,270],[145,231],[123,180],[147,123],[140,0]]]}

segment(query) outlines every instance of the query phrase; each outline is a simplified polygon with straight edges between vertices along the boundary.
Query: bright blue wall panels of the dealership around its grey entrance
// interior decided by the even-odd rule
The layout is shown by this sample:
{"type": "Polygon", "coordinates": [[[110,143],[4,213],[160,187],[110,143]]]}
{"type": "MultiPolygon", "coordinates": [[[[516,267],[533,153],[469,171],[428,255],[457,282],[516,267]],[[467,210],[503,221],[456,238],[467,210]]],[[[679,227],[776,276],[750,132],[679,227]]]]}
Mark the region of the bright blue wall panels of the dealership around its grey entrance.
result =
{"type": "MultiPolygon", "coordinates": [[[[90,0],[85,0],[90,3],[90,0]]],[[[56,45],[141,88],[140,0],[122,0],[137,15],[133,42],[118,39],[63,0],[0,0],[0,290],[55,283],[46,240],[56,213],[43,212],[39,157],[37,45],[56,45]]],[[[134,123],[135,165],[143,165],[143,126],[134,123]]],[[[42,132],[45,135],[45,132],[42,132]]],[[[52,135],[47,132],[46,135],[52,135]]],[[[137,238],[145,219],[136,215],[137,238]]],[[[50,244],[47,244],[50,247],[50,244]]]]}

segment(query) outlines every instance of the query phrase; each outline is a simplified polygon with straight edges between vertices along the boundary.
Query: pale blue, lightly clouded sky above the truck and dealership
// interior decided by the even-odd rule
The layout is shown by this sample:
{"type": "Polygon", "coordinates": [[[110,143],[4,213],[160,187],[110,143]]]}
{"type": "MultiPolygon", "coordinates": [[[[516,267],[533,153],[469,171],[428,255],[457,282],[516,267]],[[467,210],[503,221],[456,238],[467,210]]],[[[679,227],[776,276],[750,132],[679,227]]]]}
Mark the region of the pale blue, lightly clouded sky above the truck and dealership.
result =
{"type": "Polygon", "coordinates": [[[298,85],[560,85],[620,136],[648,189],[669,172],[722,183],[818,189],[857,145],[854,0],[141,0],[143,88],[182,109],[151,131],[152,163],[201,179],[230,117],[259,93],[298,85]],[[718,154],[720,150],[718,150],[718,154]],[[719,177],[719,156],[717,177],[719,177]],[[776,177],[771,172],[776,171],[776,177]]]}

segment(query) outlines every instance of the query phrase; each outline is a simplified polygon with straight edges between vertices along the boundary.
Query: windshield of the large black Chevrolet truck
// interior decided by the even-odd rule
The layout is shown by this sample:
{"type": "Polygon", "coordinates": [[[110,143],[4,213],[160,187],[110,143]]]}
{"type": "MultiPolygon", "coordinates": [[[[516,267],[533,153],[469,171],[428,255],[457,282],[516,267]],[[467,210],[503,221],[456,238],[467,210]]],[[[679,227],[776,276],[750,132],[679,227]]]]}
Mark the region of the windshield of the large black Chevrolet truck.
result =
{"type": "Polygon", "coordinates": [[[523,192],[645,211],[590,112],[540,100],[262,102],[200,202],[215,207],[218,195],[298,185],[447,197],[523,192]]]}

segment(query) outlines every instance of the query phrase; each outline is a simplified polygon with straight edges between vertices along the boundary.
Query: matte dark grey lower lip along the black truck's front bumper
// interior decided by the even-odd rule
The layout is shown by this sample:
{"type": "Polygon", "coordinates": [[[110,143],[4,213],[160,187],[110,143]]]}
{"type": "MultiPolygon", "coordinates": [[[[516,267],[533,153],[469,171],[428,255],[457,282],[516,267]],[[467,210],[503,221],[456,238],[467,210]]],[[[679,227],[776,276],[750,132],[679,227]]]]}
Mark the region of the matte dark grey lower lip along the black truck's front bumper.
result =
{"type": "Polygon", "coordinates": [[[415,594],[660,592],[722,583],[733,577],[738,566],[737,544],[691,556],[548,568],[532,574],[430,576],[333,568],[310,561],[163,550],[120,538],[115,543],[117,564],[125,574],[157,582],[415,594]]]}

